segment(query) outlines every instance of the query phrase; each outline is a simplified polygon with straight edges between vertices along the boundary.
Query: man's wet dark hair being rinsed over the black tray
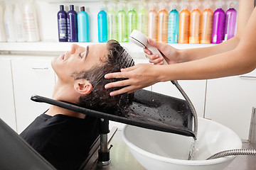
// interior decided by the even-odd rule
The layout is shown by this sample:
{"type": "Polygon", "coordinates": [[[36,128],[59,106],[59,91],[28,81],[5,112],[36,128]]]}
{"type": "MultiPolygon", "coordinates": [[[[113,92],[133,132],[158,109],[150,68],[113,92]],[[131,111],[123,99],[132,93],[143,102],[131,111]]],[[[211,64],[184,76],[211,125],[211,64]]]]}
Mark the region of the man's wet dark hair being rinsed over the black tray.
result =
{"type": "Polygon", "coordinates": [[[90,94],[80,96],[78,105],[96,111],[126,116],[132,105],[134,94],[110,96],[111,91],[122,89],[115,87],[105,89],[105,84],[123,79],[105,79],[105,74],[120,72],[120,69],[134,66],[129,53],[115,40],[107,41],[108,55],[102,65],[95,65],[85,72],[74,73],[75,79],[87,79],[92,84],[90,94]]]}

